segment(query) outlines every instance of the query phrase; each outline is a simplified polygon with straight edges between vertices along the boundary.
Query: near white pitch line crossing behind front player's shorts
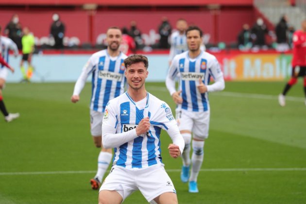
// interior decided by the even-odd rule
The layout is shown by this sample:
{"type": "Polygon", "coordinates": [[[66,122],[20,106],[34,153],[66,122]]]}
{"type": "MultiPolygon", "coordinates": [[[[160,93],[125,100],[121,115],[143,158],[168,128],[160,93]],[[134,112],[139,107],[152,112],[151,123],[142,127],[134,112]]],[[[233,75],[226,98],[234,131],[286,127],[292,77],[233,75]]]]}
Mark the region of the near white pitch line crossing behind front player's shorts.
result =
{"type": "MultiPolygon", "coordinates": [[[[180,169],[170,169],[167,172],[181,172],[180,169]]],[[[245,168],[245,169],[201,169],[200,171],[306,171],[306,168],[245,168]]],[[[68,170],[68,171],[33,171],[33,172],[0,172],[0,176],[5,175],[42,175],[42,174],[78,174],[95,173],[95,170],[68,170]]]]}

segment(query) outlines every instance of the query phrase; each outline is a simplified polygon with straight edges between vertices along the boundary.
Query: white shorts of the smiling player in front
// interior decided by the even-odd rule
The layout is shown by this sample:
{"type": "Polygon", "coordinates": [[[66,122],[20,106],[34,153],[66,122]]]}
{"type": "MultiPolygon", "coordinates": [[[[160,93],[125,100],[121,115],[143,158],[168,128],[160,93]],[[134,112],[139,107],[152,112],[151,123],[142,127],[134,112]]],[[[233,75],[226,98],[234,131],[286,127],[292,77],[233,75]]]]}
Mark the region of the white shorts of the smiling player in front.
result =
{"type": "Polygon", "coordinates": [[[137,189],[148,202],[166,192],[176,193],[163,164],[155,164],[141,169],[113,166],[100,191],[116,190],[124,201],[137,189]]]}

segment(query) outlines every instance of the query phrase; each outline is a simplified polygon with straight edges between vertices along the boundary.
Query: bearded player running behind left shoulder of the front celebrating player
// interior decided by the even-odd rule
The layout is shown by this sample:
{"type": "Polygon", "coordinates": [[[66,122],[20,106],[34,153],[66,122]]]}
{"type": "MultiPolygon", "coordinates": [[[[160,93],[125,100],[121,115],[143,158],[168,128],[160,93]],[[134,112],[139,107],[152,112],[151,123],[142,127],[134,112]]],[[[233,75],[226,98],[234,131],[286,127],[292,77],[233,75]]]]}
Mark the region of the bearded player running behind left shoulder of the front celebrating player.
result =
{"type": "Polygon", "coordinates": [[[122,34],[119,28],[111,27],[106,32],[108,47],[105,50],[94,53],[85,64],[78,78],[71,102],[80,100],[80,93],[85,85],[87,77],[92,74],[92,97],[90,102],[90,130],[95,146],[102,150],[98,157],[98,171],[90,180],[92,189],[98,189],[111,159],[112,149],[106,149],[102,145],[102,118],[105,106],[124,92],[125,77],[123,60],[127,57],[119,51],[122,34]]]}

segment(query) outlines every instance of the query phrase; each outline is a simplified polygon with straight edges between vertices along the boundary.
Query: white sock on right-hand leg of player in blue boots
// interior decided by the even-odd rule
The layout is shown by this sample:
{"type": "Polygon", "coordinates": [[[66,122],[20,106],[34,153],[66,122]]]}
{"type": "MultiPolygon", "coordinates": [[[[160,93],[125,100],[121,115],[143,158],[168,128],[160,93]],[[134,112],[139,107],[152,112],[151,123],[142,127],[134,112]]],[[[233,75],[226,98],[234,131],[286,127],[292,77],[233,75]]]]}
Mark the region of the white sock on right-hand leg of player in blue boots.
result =
{"type": "Polygon", "coordinates": [[[192,141],[192,169],[189,181],[197,181],[204,158],[204,141],[192,141]]]}

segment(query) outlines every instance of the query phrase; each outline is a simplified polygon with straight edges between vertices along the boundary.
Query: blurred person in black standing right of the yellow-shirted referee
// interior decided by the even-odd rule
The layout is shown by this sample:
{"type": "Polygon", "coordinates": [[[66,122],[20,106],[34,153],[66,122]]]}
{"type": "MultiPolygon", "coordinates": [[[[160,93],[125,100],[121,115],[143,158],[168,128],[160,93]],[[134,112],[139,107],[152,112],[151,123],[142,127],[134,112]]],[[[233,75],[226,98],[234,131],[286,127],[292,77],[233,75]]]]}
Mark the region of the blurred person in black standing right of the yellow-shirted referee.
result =
{"type": "Polygon", "coordinates": [[[65,25],[60,21],[58,14],[53,14],[52,16],[53,22],[50,28],[50,35],[54,38],[54,48],[61,49],[64,47],[63,39],[65,35],[65,25]]]}

